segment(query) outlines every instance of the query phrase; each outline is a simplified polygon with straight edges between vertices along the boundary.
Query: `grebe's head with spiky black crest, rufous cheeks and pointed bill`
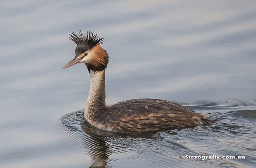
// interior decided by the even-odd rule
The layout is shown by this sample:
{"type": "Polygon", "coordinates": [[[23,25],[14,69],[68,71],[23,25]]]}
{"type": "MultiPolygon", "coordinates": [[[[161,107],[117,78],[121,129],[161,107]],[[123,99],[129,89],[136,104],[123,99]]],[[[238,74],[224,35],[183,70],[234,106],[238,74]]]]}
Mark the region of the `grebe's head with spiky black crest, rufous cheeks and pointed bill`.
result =
{"type": "Polygon", "coordinates": [[[69,39],[76,43],[75,58],[72,59],[62,69],[68,68],[77,63],[85,63],[89,72],[102,71],[108,66],[109,55],[100,44],[103,43],[103,38],[99,38],[93,32],[87,32],[83,35],[81,30],[78,34],[72,32],[69,34],[69,39]]]}

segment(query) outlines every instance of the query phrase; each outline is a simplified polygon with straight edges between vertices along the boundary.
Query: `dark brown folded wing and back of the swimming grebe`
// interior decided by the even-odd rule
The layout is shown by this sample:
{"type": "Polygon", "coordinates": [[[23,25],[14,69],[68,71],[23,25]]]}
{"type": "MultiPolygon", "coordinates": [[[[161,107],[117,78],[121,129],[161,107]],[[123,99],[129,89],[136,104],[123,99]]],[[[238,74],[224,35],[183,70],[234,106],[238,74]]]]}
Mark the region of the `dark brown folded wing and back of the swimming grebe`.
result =
{"type": "Polygon", "coordinates": [[[113,124],[121,132],[189,128],[209,124],[207,116],[174,102],[161,99],[131,99],[108,108],[113,124]]]}

